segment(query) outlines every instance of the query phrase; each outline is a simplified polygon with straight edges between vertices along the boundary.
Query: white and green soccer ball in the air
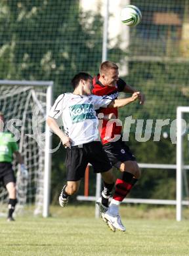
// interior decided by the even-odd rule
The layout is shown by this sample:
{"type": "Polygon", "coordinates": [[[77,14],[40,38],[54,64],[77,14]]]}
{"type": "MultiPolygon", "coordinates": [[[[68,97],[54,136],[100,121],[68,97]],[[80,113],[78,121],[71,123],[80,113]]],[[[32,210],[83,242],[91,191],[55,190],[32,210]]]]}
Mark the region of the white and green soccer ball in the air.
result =
{"type": "Polygon", "coordinates": [[[127,5],[121,10],[121,21],[127,26],[134,27],[140,23],[142,14],[137,6],[127,5]]]}

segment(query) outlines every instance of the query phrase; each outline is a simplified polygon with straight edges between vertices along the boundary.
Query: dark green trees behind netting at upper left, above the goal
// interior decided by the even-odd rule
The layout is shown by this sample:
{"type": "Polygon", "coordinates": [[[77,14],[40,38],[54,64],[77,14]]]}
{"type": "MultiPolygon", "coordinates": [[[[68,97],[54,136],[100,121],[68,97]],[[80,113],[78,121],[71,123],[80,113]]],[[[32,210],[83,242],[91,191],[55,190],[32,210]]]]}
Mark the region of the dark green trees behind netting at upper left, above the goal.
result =
{"type": "Polygon", "coordinates": [[[62,88],[70,91],[70,79],[81,71],[81,66],[93,74],[96,62],[100,64],[102,18],[79,11],[78,1],[10,0],[1,5],[0,56],[4,78],[53,80],[56,96],[62,88]],[[93,16],[93,22],[85,26],[93,16]],[[93,59],[90,66],[87,58],[93,59]]]}

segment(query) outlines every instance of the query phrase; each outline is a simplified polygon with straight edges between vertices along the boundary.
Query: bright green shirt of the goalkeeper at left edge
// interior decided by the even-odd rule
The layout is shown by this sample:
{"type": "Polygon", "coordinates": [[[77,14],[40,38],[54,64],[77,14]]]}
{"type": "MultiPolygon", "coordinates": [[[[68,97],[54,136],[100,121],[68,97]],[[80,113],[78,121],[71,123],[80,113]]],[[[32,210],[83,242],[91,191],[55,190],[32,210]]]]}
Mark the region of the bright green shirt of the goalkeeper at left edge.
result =
{"type": "Polygon", "coordinates": [[[0,133],[0,162],[6,161],[11,163],[13,153],[16,151],[18,151],[18,145],[12,137],[12,133],[0,133]]]}

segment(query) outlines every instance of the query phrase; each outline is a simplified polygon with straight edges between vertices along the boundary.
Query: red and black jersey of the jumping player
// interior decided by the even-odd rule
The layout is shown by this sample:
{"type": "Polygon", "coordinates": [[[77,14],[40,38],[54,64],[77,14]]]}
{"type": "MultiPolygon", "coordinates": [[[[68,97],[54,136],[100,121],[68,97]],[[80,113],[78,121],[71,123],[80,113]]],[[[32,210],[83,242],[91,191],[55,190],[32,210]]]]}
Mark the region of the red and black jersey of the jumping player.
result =
{"type": "MultiPolygon", "coordinates": [[[[98,80],[99,76],[100,75],[96,75],[93,78],[93,94],[98,96],[107,95],[108,98],[115,100],[118,96],[118,93],[123,91],[123,89],[125,88],[125,81],[119,78],[116,86],[110,87],[108,85],[102,85],[102,83],[100,83],[100,81],[98,80]]],[[[114,113],[116,118],[118,117],[117,108],[100,108],[100,110],[98,110],[98,113],[103,113],[104,115],[114,113]]],[[[110,142],[111,139],[114,139],[116,137],[116,135],[121,134],[121,126],[117,126],[116,123],[113,123],[113,125],[107,125],[107,123],[108,120],[104,119],[102,123],[102,128],[100,129],[102,144],[110,142]]]]}

